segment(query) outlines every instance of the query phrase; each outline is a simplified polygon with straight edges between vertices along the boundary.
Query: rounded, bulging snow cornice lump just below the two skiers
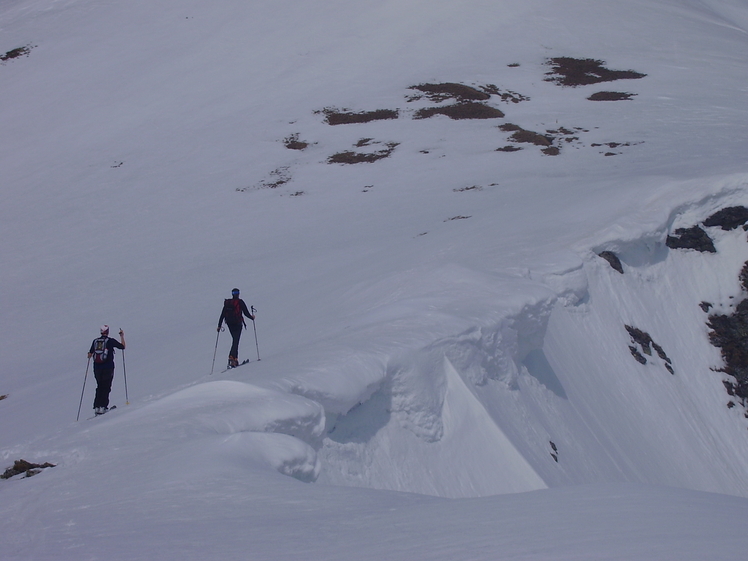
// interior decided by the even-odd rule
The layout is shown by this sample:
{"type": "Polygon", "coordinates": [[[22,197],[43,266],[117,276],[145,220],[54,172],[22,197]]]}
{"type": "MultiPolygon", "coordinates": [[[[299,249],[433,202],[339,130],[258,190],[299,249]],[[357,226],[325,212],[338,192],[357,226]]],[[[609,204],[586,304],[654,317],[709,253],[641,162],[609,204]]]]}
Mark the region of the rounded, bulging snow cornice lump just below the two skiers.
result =
{"type": "MultiPolygon", "coordinates": [[[[106,440],[122,449],[148,450],[155,455],[154,469],[168,464],[165,458],[172,450],[192,446],[213,455],[217,469],[222,462],[238,461],[313,481],[320,469],[313,446],[324,432],[325,416],[321,406],[303,397],[221,380],[137,409],[120,407],[88,422],[96,423],[86,430],[89,442],[106,440]]],[[[95,446],[73,452],[60,446],[54,454],[62,454],[71,465],[102,461],[102,451],[95,446]]]]}

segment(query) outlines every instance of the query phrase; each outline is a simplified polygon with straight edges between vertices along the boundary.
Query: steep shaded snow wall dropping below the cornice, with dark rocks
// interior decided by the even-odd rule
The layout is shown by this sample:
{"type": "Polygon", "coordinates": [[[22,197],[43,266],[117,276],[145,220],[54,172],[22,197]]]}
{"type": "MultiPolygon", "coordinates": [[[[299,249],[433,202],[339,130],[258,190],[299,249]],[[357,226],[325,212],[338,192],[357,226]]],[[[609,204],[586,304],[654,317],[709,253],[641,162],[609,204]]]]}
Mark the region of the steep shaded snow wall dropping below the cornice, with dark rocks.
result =
{"type": "Polygon", "coordinates": [[[502,287],[499,317],[383,359],[375,389],[328,410],[319,480],[447,497],[611,481],[747,495],[748,421],[707,326],[743,297],[746,232],[705,228],[715,253],[666,245],[745,202],[745,177],[713,183],[695,200],[693,185],[665,189],[657,210],[580,243],[567,270],[462,271],[484,301],[502,287]]]}

